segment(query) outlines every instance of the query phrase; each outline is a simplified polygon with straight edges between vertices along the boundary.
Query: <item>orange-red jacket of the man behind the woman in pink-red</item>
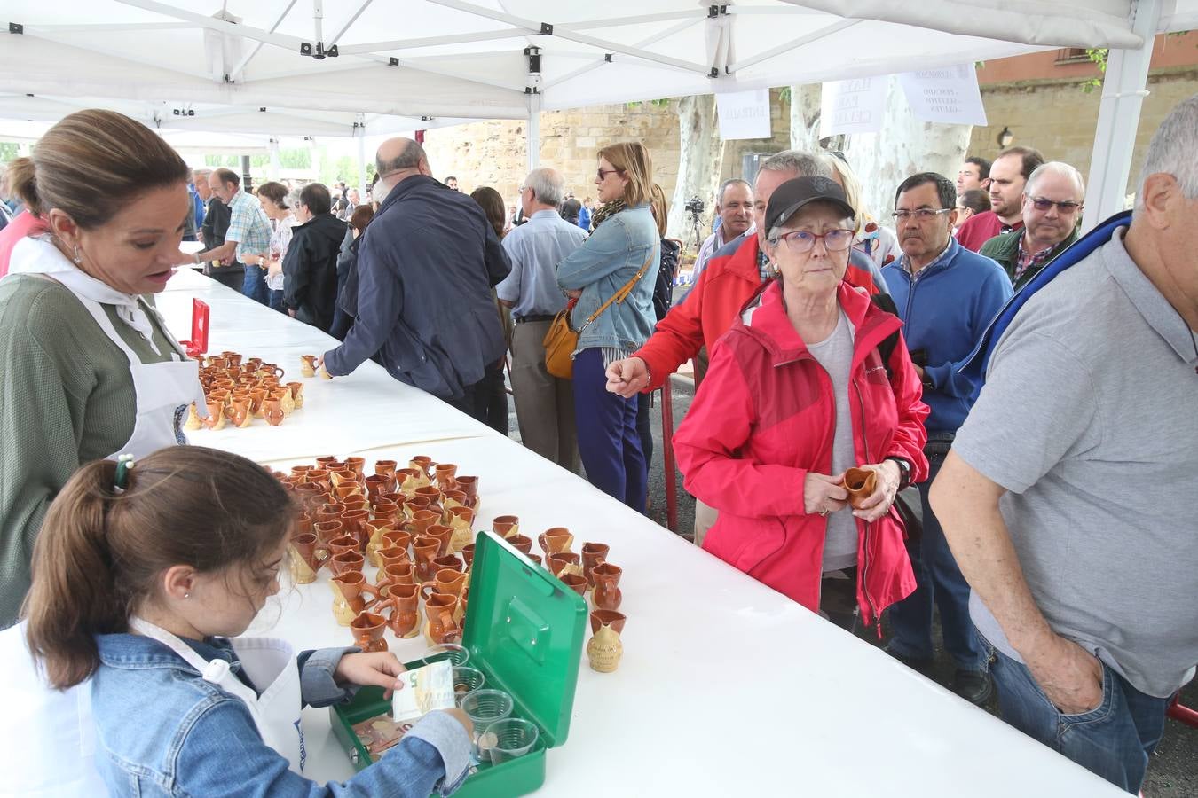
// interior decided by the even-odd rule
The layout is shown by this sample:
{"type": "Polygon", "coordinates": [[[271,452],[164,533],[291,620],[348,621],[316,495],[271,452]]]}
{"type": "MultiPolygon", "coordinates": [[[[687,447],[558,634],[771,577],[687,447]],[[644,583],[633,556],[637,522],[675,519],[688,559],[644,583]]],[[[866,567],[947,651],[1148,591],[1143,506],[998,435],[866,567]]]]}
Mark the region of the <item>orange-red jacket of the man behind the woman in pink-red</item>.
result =
{"type": "MultiPolygon", "coordinates": [[[[649,367],[649,385],[657,390],[678,371],[702,346],[710,351],[720,336],[728,331],[745,303],[761,290],[757,268],[757,236],[748,236],[731,255],[716,255],[707,262],[686,301],[674,305],[658,322],[657,331],[633,357],[641,358],[649,367]]],[[[845,280],[875,293],[869,270],[852,263],[845,280]]]]}

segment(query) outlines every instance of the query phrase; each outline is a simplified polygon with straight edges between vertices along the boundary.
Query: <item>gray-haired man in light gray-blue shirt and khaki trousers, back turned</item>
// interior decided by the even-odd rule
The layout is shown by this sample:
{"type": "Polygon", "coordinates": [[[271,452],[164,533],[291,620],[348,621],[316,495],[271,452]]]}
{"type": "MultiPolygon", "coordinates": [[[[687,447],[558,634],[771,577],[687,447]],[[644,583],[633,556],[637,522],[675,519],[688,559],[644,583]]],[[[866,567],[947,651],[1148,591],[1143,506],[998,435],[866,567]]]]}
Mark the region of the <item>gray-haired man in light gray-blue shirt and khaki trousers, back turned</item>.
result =
{"type": "Polygon", "coordinates": [[[520,189],[526,224],[503,239],[512,273],[495,287],[500,301],[512,309],[512,394],[520,424],[520,440],[545,459],[579,470],[579,444],[574,426],[574,390],[545,368],[541,343],[553,316],[565,307],[555,270],[582,246],[586,233],[557,213],[565,181],[552,169],[534,169],[520,189]]]}

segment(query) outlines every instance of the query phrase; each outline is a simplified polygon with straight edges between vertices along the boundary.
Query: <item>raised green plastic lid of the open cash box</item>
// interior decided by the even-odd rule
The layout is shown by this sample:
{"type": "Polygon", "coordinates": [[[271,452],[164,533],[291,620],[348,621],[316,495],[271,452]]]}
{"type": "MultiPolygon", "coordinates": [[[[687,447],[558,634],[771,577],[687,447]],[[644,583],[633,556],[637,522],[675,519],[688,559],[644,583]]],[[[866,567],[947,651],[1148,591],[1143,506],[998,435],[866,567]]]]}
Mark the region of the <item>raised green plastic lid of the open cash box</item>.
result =
{"type": "Polygon", "coordinates": [[[490,531],[474,541],[462,645],[486,686],[512,694],[516,712],[549,747],[570,731],[587,603],[490,531]]]}

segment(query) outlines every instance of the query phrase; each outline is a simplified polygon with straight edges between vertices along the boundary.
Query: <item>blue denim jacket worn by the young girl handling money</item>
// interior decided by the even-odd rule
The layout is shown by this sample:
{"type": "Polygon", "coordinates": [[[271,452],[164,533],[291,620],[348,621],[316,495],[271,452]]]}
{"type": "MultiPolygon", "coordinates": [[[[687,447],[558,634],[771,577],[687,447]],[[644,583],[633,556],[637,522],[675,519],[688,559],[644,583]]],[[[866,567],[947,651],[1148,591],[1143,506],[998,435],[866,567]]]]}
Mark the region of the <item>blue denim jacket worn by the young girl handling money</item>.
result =
{"type": "MultiPolygon", "coordinates": [[[[470,739],[456,720],[437,712],[349,781],[316,784],[291,772],[262,742],[241,699],[205,682],[167,646],[134,634],[97,635],[96,644],[96,767],[113,796],[426,798],[434,791],[449,794],[466,775],[470,739]]],[[[346,651],[356,650],[300,656],[305,703],[349,698],[333,682],[346,651]]]]}

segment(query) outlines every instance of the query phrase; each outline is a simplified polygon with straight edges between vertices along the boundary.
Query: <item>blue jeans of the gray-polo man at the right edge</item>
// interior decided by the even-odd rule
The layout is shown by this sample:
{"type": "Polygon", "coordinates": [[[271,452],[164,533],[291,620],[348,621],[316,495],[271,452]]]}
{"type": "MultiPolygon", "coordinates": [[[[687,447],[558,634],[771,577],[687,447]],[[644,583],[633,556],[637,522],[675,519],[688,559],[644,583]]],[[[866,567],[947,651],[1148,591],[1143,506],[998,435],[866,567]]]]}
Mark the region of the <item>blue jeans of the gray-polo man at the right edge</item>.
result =
{"type": "Polygon", "coordinates": [[[1061,714],[1027,666],[1002,651],[993,650],[991,674],[1003,720],[1117,787],[1139,792],[1148,759],[1164,732],[1169,699],[1140,693],[1103,663],[1102,703],[1082,714],[1061,714]]]}

